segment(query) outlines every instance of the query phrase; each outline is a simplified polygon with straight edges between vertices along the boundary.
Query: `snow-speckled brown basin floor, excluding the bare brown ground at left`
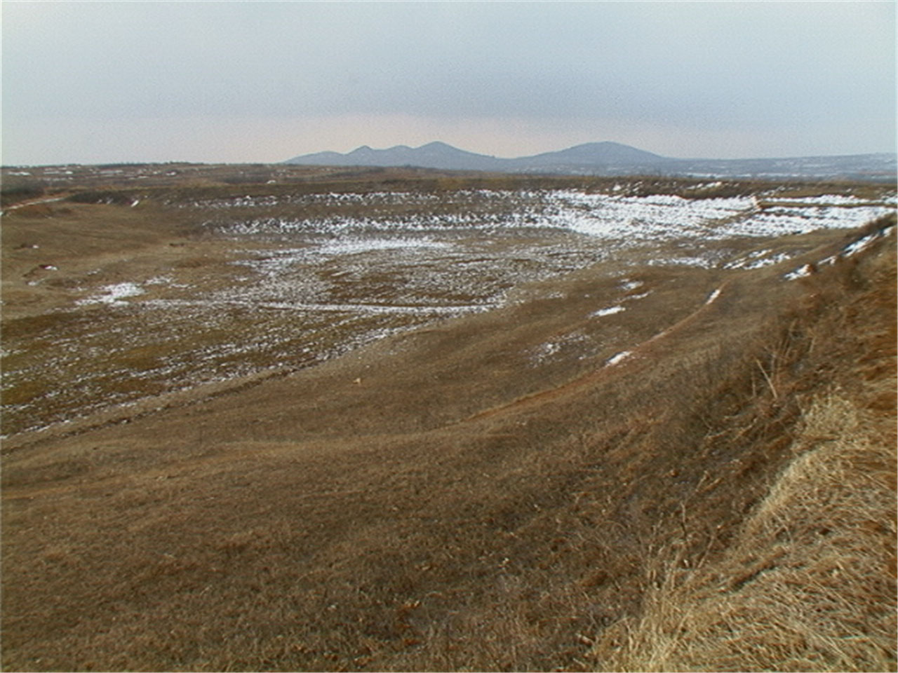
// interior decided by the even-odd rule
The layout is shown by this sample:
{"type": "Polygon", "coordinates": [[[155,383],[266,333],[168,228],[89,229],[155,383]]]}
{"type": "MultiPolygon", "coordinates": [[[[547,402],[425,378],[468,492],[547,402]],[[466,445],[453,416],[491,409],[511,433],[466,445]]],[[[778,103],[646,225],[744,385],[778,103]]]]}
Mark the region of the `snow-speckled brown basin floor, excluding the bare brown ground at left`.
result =
{"type": "MultiPolygon", "coordinates": [[[[770,241],[857,227],[893,212],[894,197],[476,189],[167,207],[195,212],[210,240],[227,242],[227,257],[87,288],[56,319],[35,320],[27,341],[7,339],[4,433],[205,381],[319,363],[435,319],[500,307],[513,288],[599,262],[732,272],[786,264],[805,249],[770,241]]],[[[786,277],[810,273],[787,270],[786,277]]],[[[644,296],[609,296],[591,319],[644,296]]],[[[545,344],[532,362],[586,341],[545,344]]]]}

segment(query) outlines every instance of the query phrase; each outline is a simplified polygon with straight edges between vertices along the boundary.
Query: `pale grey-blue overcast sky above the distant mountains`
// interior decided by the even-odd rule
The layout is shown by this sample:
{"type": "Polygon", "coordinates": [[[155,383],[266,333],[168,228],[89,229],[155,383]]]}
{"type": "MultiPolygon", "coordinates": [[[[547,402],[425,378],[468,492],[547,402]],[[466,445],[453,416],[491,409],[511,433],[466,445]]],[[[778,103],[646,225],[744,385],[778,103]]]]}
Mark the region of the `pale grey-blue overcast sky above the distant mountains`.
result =
{"type": "Polygon", "coordinates": [[[4,165],[895,152],[885,2],[3,0],[4,165]]]}

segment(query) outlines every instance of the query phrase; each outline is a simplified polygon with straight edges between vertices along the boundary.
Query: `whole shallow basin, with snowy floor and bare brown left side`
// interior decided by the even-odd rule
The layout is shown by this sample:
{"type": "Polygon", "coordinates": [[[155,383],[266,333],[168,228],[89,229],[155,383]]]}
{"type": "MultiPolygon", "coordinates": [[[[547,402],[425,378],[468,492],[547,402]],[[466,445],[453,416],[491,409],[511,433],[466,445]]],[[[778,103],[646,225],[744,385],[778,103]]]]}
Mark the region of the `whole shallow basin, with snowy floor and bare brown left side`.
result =
{"type": "Polygon", "coordinates": [[[558,291],[545,281],[587,267],[597,286],[608,282],[585,328],[518,356],[526,366],[594,357],[607,347],[602,321],[652,293],[636,279],[642,270],[779,265],[786,280],[801,266],[790,260],[832,238],[826,232],[894,211],[885,189],[714,197],[720,183],[692,184],[683,196],[638,187],[256,188],[8,210],[4,437],[550,299],[558,291]],[[180,229],[165,236],[172,223],[180,229]],[[143,238],[111,245],[119,228],[143,238]]]}

